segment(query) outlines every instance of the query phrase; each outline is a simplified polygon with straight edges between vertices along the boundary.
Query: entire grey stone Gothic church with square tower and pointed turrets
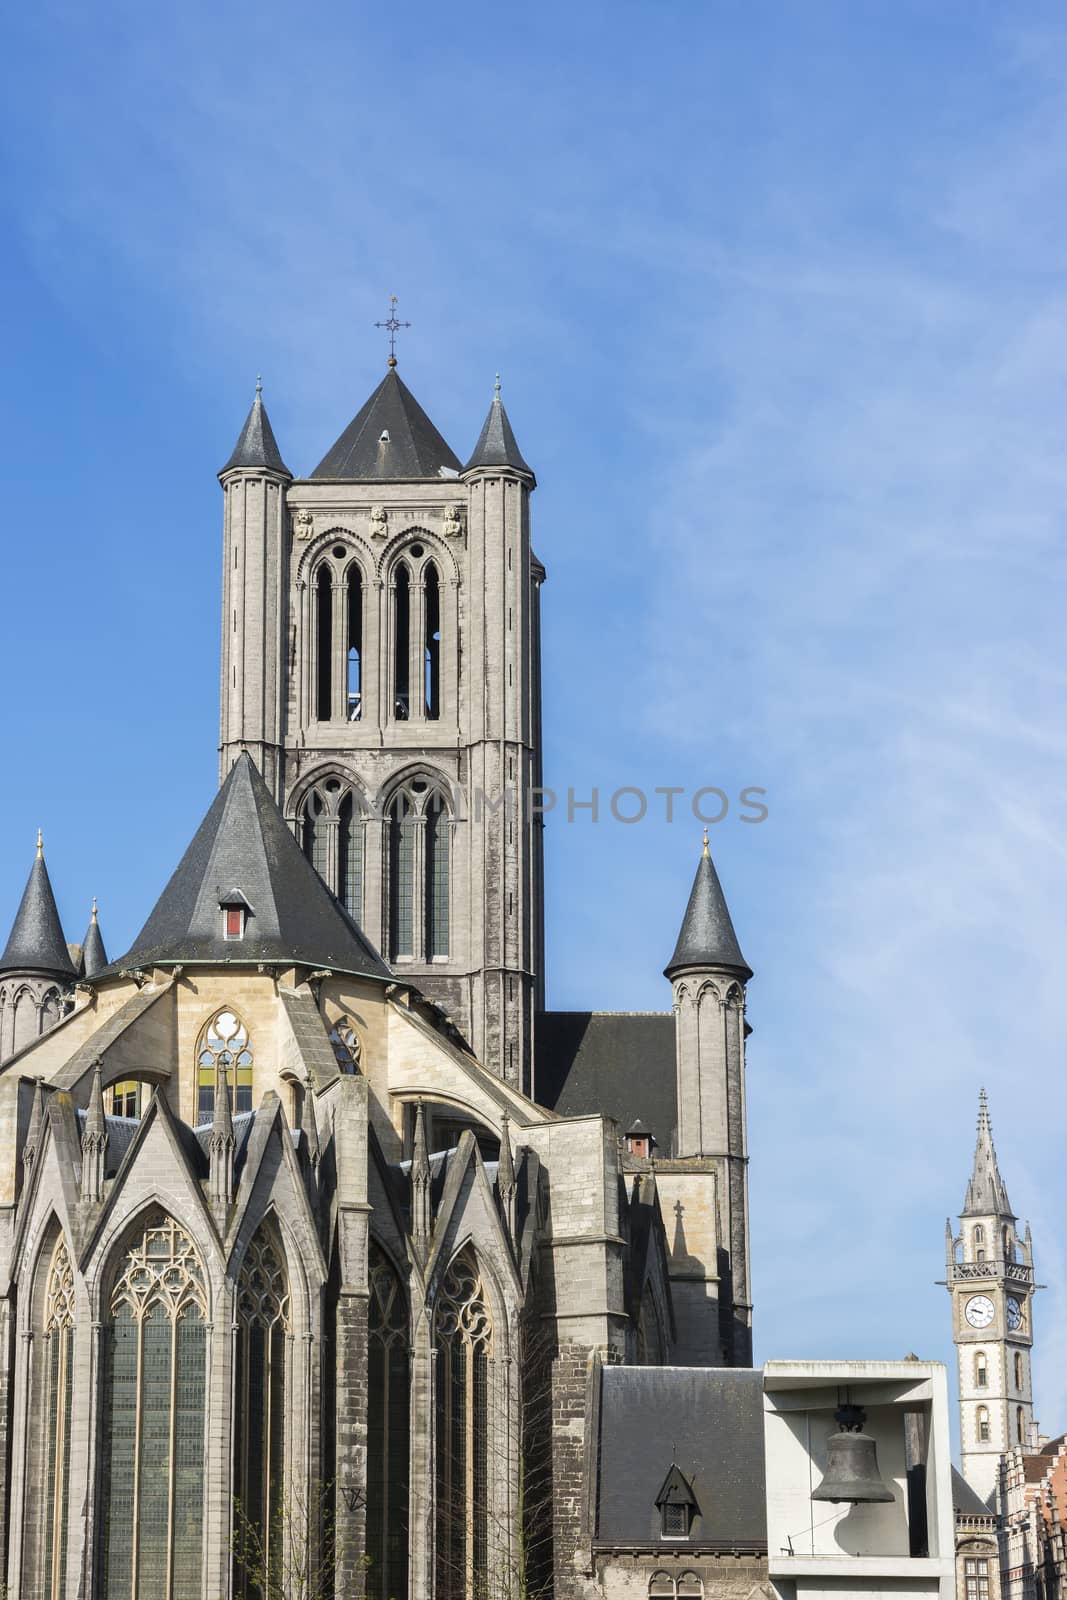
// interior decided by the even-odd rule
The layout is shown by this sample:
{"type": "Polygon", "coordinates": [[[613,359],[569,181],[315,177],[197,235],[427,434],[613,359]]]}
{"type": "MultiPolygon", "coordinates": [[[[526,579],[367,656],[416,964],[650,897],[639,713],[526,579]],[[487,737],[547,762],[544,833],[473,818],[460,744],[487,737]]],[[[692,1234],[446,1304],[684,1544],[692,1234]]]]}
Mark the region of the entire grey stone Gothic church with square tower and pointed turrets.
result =
{"type": "Polygon", "coordinates": [[[40,848],[0,958],[8,1590],[763,1592],[752,973],[705,843],[672,1008],[544,1010],[499,390],[464,466],[390,365],[299,480],[258,392],[219,477],[219,792],[122,958],[40,848]]]}

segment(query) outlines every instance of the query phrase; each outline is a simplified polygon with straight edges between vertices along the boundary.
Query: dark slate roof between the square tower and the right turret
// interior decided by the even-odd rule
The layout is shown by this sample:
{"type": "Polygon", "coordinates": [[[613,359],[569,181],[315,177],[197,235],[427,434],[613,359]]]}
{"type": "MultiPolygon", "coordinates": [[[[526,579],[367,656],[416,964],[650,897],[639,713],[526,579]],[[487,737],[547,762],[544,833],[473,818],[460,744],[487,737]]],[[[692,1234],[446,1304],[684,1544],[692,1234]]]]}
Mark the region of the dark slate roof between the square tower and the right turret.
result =
{"type": "Polygon", "coordinates": [[[561,1117],[640,1118],[672,1150],[678,1123],[672,1011],[541,1011],[534,1026],[539,1106],[561,1117]]]}

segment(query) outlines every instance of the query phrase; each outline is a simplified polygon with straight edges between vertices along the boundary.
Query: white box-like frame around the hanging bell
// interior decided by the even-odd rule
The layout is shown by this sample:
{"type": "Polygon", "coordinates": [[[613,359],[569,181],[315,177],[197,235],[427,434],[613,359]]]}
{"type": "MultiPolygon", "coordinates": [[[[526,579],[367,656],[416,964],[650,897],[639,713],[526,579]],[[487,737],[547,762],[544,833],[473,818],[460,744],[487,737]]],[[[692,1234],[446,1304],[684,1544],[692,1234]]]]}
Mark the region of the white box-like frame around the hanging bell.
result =
{"type": "Polygon", "coordinates": [[[941,1362],[768,1362],[768,1566],[781,1600],[950,1600],[949,1387],[941,1362]],[[893,1502],[813,1499],[843,1402],[867,1414],[893,1502]]]}

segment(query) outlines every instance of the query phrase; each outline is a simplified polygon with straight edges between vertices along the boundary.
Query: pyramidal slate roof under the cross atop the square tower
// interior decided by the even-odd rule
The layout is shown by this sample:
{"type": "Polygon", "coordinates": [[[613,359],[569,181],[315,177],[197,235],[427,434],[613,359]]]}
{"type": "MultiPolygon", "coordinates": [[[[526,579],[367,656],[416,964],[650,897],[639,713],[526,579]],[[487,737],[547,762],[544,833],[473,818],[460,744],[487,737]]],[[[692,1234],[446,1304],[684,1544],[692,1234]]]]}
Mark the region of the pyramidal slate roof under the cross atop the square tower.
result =
{"type": "Polygon", "coordinates": [[[442,467],[459,472],[459,458],[390,368],[312,477],[440,478],[442,467]]]}

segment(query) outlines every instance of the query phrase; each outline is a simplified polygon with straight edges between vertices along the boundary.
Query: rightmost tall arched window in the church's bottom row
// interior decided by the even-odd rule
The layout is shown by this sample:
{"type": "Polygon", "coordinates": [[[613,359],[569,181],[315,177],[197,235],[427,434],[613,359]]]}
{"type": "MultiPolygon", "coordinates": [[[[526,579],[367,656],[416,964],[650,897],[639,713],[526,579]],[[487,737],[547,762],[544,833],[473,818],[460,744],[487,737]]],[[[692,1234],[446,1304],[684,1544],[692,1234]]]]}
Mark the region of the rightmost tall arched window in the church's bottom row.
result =
{"type": "Polygon", "coordinates": [[[459,1254],[434,1312],[437,1352],[438,1600],[475,1600],[490,1565],[490,1358],[493,1317],[478,1267],[459,1254]]]}

